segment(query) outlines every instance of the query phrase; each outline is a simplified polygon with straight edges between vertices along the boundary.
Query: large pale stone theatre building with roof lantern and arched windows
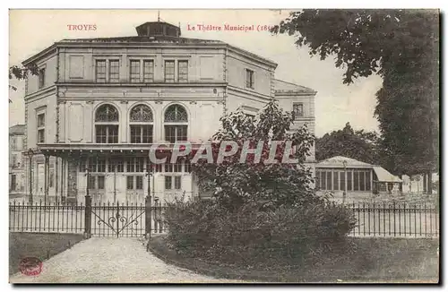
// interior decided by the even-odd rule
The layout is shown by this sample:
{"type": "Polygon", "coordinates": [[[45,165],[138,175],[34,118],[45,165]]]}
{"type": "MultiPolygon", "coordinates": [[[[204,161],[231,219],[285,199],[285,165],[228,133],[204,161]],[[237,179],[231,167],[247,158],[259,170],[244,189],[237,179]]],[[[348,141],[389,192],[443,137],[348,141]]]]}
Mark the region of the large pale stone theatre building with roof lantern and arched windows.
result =
{"type": "MultiPolygon", "coordinates": [[[[315,91],[274,79],[277,64],[219,40],[146,22],[136,36],[63,39],[31,56],[24,160],[34,201],[143,202],[196,197],[188,162],[151,167],[153,143],[200,143],[220,116],[272,98],[314,133],[315,91]]],[[[314,150],[307,158],[314,164],[314,150]]]]}

